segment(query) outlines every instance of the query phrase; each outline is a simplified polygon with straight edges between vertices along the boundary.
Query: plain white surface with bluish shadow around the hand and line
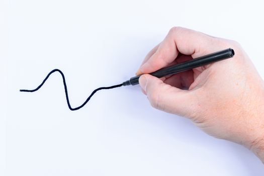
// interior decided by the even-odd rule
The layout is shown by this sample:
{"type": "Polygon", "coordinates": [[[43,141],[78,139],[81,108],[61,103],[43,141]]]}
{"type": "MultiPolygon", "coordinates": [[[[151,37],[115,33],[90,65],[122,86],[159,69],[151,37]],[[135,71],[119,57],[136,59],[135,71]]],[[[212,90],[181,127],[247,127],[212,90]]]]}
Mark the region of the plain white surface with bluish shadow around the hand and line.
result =
{"type": "Polygon", "coordinates": [[[133,76],[173,26],[237,40],[264,77],[261,1],[2,4],[1,175],[263,175],[248,149],[151,108],[139,86],[99,92],[75,112],[58,73],[36,93],[19,92],[59,68],[79,106],[97,87],[133,76]]]}

